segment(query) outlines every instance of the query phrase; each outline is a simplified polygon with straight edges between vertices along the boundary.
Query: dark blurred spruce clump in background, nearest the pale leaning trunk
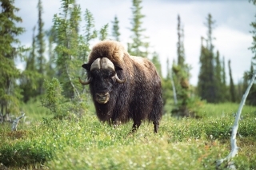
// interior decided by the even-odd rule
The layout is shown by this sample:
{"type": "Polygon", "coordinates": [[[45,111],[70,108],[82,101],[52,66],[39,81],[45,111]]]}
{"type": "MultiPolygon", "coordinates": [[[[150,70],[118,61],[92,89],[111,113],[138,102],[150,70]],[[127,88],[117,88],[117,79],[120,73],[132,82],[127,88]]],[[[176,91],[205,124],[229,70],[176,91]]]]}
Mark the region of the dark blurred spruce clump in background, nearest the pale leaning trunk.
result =
{"type": "Polygon", "coordinates": [[[214,45],[212,44],[212,31],[214,21],[211,15],[208,15],[206,26],[208,28],[207,38],[202,38],[201,54],[200,54],[200,72],[198,75],[198,96],[202,100],[210,103],[219,103],[223,101],[238,101],[238,97],[234,94],[234,82],[230,68],[230,91],[226,87],[226,71],[225,61],[221,64],[219,52],[214,53],[214,45]],[[205,45],[206,44],[206,45],[205,45]],[[231,82],[232,79],[232,82],[231,82]],[[231,92],[232,91],[232,92],[231,92]],[[227,93],[228,92],[228,93],[227,93]]]}

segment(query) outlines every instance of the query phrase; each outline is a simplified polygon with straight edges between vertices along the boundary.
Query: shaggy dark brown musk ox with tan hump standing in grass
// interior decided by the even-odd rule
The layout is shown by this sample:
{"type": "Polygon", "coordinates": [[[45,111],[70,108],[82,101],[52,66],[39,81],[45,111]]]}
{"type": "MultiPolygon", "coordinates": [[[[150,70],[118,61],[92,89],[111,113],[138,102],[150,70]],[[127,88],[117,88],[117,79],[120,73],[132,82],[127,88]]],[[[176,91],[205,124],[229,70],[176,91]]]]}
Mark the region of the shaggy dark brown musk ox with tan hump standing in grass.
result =
{"type": "Polygon", "coordinates": [[[120,42],[94,45],[86,69],[90,94],[100,121],[110,125],[134,121],[132,132],[142,121],[153,121],[158,132],[162,117],[161,79],[154,64],[146,58],[130,56],[120,42]]]}

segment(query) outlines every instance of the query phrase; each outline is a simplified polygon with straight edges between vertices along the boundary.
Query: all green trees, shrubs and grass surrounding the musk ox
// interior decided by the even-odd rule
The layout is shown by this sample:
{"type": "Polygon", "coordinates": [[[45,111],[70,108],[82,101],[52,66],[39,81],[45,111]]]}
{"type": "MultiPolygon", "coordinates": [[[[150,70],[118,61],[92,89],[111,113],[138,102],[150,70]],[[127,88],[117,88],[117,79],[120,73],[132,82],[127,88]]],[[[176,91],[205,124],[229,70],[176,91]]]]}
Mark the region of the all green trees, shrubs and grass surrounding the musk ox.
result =
{"type": "MultiPolygon", "coordinates": [[[[250,2],[256,5],[255,0],[250,2]]],[[[227,78],[225,58],[220,59],[221,52],[211,41],[214,19],[210,14],[206,38],[202,37],[198,47],[198,85],[193,86],[182,16],[177,26],[178,57],[166,61],[167,76],[163,77],[159,55],[150,53],[144,34],[142,0],[132,1],[127,49],[154,63],[162,78],[164,109],[157,134],[147,121],[130,133],[132,121],[115,127],[98,121],[89,89],[78,81],[78,77],[87,77],[80,65],[88,60],[91,42],[122,40],[118,14],[114,22],[96,30],[90,10],[83,13],[75,0],[61,0],[53,26],[45,30],[42,1],[38,0],[38,23],[31,47],[26,49],[18,40],[25,30],[16,26],[22,18],[16,16],[14,0],[0,3],[0,169],[216,169],[218,160],[229,155],[238,102],[255,73],[256,57],[237,85],[230,65],[227,78]],[[24,70],[17,69],[16,59],[24,62],[24,70]]],[[[251,26],[250,49],[255,54],[256,23],[251,26]]],[[[238,154],[218,164],[218,169],[256,169],[255,92],[254,84],[238,117],[238,154]]]]}

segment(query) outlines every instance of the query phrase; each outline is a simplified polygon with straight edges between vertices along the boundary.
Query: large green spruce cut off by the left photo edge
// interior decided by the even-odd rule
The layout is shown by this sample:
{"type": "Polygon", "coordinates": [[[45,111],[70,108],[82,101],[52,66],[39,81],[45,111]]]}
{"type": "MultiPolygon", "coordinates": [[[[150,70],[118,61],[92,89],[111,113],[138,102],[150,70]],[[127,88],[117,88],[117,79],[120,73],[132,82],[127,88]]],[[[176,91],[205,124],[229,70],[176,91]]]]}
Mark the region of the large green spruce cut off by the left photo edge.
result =
{"type": "Polygon", "coordinates": [[[15,15],[19,9],[14,6],[14,0],[0,0],[0,3],[0,122],[2,122],[10,121],[10,113],[18,113],[22,96],[16,84],[20,71],[16,68],[14,59],[24,52],[18,36],[25,30],[16,26],[18,22],[22,22],[22,18],[15,15]]]}

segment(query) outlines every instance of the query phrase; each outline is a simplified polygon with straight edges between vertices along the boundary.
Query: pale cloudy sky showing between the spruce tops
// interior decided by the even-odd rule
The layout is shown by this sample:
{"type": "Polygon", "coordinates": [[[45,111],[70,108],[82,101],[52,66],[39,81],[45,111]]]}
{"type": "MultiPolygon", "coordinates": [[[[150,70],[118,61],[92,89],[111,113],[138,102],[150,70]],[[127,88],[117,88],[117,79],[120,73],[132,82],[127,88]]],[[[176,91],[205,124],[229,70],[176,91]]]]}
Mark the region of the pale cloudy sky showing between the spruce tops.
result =
{"type": "MultiPolygon", "coordinates": [[[[131,0],[77,0],[81,6],[82,15],[86,9],[94,17],[96,30],[109,24],[109,34],[112,31],[112,22],[116,15],[119,20],[120,39],[126,46],[130,42],[131,18],[133,17],[131,0]]],[[[15,0],[14,5],[20,10],[17,15],[23,22],[19,25],[26,29],[20,36],[22,45],[30,46],[32,30],[38,22],[37,0],[15,0]]],[[[42,0],[44,29],[53,25],[54,14],[59,14],[60,0],[42,0]]],[[[142,28],[149,37],[150,50],[159,54],[162,64],[162,74],[166,76],[166,60],[177,61],[177,18],[180,15],[184,28],[184,49],[186,62],[192,67],[190,83],[197,85],[200,69],[199,56],[201,37],[206,38],[206,18],[212,15],[215,21],[213,30],[214,51],[225,58],[226,78],[228,76],[228,60],[231,60],[231,69],[234,82],[242,80],[242,75],[250,69],[253,53],[248,49],[253,42],[250,31],[251,22],[256,22],[256,6],[247,0],[142,0],[142,28]]],[[[84,23],[81,23],[81,27],[84,23]]],[[[94,45],[98,41],[92,43],[94,45]]],[[[229,81],[228,81],[229,82],[229,81]]]]}

